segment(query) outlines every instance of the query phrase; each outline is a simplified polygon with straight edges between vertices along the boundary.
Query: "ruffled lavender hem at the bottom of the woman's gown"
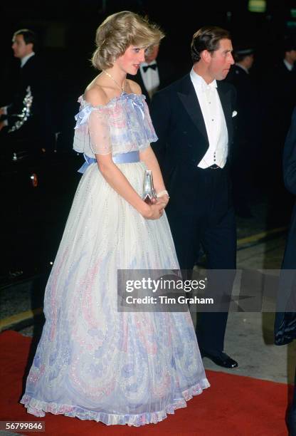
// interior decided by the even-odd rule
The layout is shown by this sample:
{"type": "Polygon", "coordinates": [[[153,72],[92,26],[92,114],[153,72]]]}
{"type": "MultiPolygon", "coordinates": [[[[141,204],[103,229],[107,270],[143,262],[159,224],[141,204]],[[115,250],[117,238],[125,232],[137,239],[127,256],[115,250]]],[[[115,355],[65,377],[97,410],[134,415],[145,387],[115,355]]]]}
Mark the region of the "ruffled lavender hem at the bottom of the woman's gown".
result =
{"type": "Polygon", "coordinates": [[[46,412],[53,413],[53,415],[65,415],[70,417],[78,417],[80,420],[95,420],[103,422],[105,425],[133,425],[139,427],[146,424],[157,424],[165,420],[167,414],[172,415],[174,411],[179,408],[186,408],[186,401],[191,400],[194,395],[199,395],[210,386],[208,380],[205,378],[201,383],[185,390],[182,395],[183,398],[174,400],[174,403],[167,405],[164,410],[159,412],[146,412],[139,415],[115,415],[104,412],[94,412],[79,408],[78,406],[60,405],[57,403],[46,403],[45,401],[36,400],[30,395],[23,395],[21,404],[25,406],[28,413],[37,417],[45,416],[46,412]]]}

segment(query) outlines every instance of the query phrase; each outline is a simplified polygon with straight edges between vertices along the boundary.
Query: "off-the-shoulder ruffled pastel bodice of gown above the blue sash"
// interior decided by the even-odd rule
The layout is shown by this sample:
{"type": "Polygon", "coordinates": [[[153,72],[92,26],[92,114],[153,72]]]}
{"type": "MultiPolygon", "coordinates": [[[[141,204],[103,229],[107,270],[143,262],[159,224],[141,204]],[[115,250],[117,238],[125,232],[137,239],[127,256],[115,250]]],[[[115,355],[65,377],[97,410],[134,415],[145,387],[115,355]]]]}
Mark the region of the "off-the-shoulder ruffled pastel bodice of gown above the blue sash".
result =
{"type": "Polygon", "coordinates": [[[88,157],[142,151],[157,141],[144,95],[124,93],[106,105],[80,97],[73,148],[88,157]]]}

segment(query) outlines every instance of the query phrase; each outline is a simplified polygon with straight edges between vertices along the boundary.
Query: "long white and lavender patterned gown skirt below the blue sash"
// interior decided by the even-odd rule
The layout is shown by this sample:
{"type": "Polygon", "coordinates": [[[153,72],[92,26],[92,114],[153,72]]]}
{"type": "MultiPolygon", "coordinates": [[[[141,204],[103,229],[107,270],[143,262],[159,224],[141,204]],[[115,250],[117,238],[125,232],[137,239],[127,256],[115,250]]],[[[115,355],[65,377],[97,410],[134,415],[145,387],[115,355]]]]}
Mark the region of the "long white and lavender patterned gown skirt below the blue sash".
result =
{"type": "MultiPolygon", "coordinates": [[[[117,165],[142,193],[143,162],[117,165]]],[[[144,425],[209,386],[189,312],[117,311],[117,269],[179,269],[169,224],[144,219],[88,167],[46,286],[46,323],[21,403],[144,425]]]]}

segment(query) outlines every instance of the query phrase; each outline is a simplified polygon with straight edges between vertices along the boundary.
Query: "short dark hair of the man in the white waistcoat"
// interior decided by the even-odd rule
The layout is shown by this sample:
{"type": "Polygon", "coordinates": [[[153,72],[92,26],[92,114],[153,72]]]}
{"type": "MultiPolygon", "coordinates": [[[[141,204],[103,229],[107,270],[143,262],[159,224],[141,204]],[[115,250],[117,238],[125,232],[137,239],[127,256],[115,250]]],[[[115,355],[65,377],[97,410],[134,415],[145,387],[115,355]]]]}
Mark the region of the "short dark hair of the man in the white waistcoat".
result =
{"type": "Polygon", "coordinates": [[[218,50],[221,39],[231,39],[231,34],[221,27],[205,26],[199,29],[191,41],[191,58],[193,63],[199,62],[201,52],[218,50]]]}

